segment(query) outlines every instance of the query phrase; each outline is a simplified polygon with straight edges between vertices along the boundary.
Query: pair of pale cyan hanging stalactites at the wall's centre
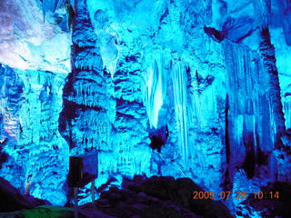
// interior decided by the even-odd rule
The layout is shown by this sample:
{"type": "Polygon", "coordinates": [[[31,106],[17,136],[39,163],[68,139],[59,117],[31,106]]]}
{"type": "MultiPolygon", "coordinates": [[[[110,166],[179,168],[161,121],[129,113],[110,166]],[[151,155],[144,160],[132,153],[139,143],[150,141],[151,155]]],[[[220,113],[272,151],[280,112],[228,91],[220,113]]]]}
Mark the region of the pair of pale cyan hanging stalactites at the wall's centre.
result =
{"type": "Polygon", "coordinates": [[[152,51],[146,56],[146,87],[144,104],[151,127],[158,128],[166,120],[170,101],[174,98],[176,129],[184,159],[188,156],[187,64],[171,57],[168,50],[152,51]],[[169,86],[173,89],[169,96],[169,86]]]}

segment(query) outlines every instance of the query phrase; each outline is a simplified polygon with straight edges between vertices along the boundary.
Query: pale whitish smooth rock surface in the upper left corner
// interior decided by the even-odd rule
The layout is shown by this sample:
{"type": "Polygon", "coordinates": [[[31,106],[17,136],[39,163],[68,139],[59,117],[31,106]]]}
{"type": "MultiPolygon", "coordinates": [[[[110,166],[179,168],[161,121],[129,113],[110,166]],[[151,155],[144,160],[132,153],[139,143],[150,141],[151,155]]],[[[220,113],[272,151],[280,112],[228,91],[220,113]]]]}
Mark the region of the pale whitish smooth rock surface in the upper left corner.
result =
{"type": "Polygon", "coordinates": [[[68,73],[71,37],[66,7],[54,10],[53,1],[43,2],[49,5],[45,19],[42,1],[1,1],[0,62],[23,70],[68,73]]]}

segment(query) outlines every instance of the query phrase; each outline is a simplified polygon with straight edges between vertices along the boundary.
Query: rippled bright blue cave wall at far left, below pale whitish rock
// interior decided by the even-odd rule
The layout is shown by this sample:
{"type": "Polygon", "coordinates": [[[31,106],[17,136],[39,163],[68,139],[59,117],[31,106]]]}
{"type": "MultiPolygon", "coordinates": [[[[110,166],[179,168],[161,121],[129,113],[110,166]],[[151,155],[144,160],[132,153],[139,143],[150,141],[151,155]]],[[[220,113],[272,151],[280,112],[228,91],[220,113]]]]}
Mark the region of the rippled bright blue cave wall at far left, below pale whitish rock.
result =
{"type": "Polygon", "coordinates": [[[1,65],[0,174],[22,193],[56,204],[66,201],[68,145],[58,132],[64,74],[1,65]]]}

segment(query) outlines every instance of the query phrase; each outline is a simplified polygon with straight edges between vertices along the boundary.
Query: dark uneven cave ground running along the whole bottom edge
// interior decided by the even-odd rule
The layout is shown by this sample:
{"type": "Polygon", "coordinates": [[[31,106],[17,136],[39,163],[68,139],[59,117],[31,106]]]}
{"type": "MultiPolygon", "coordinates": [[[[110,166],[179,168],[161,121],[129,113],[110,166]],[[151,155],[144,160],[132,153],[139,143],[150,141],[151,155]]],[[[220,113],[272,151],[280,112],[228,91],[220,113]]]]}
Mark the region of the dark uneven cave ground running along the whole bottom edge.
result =
{"type": "MultiPolygon", "coordinates": [[[[74,207],[54,206],[30,195],[22,195],[4,179],[0,179],[0,217],[74,217],[74,207]]],[[[291,214],[291,184],[269,183],[264,191],[278,191],[279,200],[255,199],[249,195],[236,211],[237,216],[288,218],[291,214]]],[[[226,205],[211,199],[193,199],[193,193],[204,190],[189,178],[170,176],[146,178],[135,175],[125,179],[122,188],[112,186],[101,193],[95,203],[85,203],[78,208],[80,218],[232,218],[226,205]]]]}

